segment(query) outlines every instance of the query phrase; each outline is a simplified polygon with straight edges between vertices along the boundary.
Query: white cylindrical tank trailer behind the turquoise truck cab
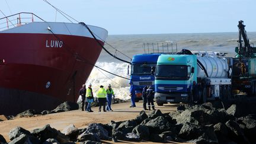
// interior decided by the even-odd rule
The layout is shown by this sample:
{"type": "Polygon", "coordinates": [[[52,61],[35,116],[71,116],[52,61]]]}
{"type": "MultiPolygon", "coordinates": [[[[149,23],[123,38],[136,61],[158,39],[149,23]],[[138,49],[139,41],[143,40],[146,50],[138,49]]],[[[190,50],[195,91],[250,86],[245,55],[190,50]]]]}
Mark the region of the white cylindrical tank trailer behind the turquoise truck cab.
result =
{"type": "Polygon", "coordinates": [[[197,85],[203,101],[231,96],[231,78],[225,53],[192,52],[197,55],[197,85]]]}

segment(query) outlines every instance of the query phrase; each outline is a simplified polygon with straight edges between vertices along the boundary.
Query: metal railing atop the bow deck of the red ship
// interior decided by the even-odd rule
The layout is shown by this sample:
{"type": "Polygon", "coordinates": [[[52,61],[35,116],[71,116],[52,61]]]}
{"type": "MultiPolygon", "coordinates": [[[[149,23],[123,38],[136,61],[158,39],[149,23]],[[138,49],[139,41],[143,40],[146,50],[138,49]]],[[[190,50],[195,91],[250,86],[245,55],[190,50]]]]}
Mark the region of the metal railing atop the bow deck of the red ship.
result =
{"type": "Polygon", "coordinates": [[[9,15],[7,17],[0,18],[0,31],[33,23],[34,21],[44,20],[32,12],[20,12],[18,14],[9,15]]]}

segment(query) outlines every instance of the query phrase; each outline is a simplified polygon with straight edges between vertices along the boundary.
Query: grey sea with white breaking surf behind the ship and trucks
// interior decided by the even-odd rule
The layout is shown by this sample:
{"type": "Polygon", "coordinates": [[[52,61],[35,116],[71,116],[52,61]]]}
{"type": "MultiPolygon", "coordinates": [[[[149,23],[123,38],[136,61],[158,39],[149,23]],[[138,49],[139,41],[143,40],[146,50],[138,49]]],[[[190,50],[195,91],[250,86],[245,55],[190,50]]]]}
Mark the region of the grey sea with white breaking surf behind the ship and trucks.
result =
{"type": "MultiPolygon", "coordinates": [[[[247,36],[252,46],[256,47],[256,32],[248,32],[247,36]]],[[[142,53],[180,52],[182,49],[203,52],[223,52],[226,56],[235,56],[238,46],[237,33],[187,33],[187,34],[129,34],[109,35],[104,47],[114,56],[130,62],[133,55],[142,53]]],[[[106,71],[129,78],[128,63],[116,60],[102,50],[95,64],[106,71]]],[[[128,100],[129,80],[120,78],[98,68],[92,70],[86,84],[92,84],[94,93],[103,85],[111,84],[116,98],[128,100]]]]}

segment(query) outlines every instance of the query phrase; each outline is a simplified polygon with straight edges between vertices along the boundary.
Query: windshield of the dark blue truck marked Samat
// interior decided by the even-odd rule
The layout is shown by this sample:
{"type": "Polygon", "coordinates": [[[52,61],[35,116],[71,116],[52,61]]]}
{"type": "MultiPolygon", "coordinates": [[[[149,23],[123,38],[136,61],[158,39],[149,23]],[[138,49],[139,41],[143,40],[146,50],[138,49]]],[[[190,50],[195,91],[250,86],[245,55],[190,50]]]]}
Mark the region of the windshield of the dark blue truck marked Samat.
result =
{"type": "Polygon", "coordinates": [[[155,67],[156,63],[140,63],[132,65],[132,75],[151,75],[151,67],[155,67]]]}

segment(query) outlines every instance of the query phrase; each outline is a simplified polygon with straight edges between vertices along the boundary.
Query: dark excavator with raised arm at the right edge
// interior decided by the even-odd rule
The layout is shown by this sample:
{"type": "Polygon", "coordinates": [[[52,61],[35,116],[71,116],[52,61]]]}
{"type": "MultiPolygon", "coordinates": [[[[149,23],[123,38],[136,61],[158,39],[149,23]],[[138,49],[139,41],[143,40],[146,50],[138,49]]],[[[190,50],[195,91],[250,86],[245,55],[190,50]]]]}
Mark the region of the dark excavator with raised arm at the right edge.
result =
{"type": "Polygon", "coordinates": [[[232,94],[256,96],[256,47],[249,43],[244,21],[238,22],[238,29],[238,47],[235,48],[237,55],[229,60],[232,94]]]}

